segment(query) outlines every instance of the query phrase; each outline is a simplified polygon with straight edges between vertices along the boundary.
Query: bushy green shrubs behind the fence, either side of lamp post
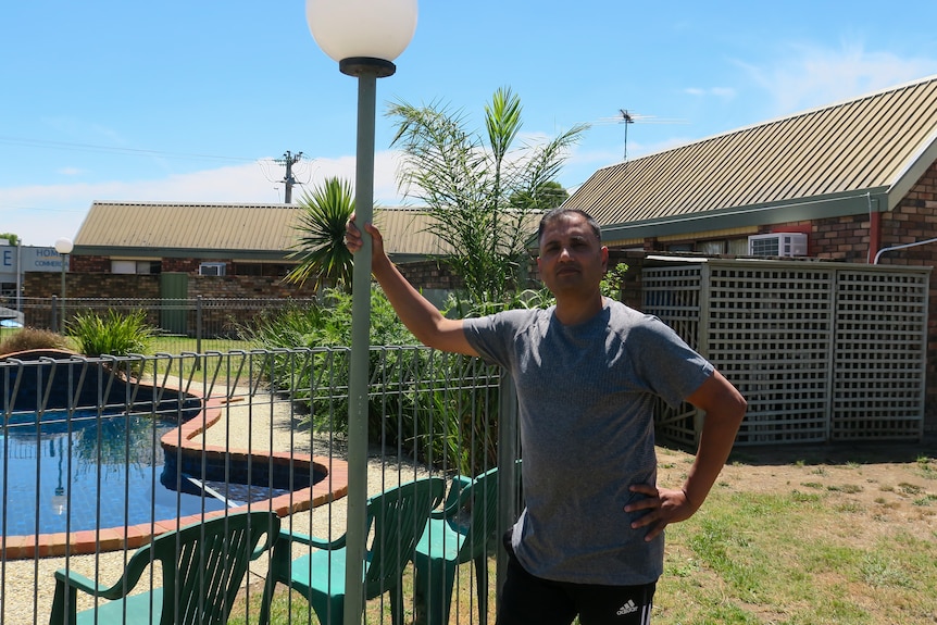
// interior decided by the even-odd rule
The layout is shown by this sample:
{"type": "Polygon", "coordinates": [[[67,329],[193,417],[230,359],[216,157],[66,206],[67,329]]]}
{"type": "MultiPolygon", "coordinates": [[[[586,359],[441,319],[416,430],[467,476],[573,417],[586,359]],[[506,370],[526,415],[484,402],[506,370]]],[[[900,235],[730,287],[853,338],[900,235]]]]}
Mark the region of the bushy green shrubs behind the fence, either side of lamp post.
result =
{"type": "MultiPolygon", "coordinates": [[[[351,296],[332,290],[325,301],[327,305],[273,313],[245,328],[243,334],[272,352],[267,366],[271,385],[304,404],[313,427],[345,435],[351,296]],[[285,351],[318,347],[333,349],[309,355],[285,351]],[[299,362],[302,358],[310,362],[299,362]]],[[[370,352],[372,442],[398,447],[422,461],[458,467],[466,474],[473,466],[491,466],[497,449],[498,393],[487,390],[479,396],[474,384],[478,377],[497,380],[497,371],[458,354],[432,359],[429,350],[408,348],[418,341],[378,288],[372,291],[371,345],[382,348],[370,352]]]]}

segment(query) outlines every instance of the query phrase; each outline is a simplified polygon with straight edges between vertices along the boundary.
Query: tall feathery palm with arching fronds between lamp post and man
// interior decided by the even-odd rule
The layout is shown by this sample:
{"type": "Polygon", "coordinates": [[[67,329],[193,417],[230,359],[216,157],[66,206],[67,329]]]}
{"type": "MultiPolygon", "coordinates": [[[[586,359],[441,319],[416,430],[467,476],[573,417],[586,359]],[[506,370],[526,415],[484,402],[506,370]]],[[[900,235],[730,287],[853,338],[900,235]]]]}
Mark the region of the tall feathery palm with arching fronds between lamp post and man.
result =
{"type": "Polygon", "coordinates": [[[526,243],[544,204],[536,200],[551,189],[569,148],[587,126],[513,148],[521,100],[510,88],[495,91],[486,104],[484,138],[466,129],[461,112],[438,103],[398,102],[387,114],[397,118],[391,145],[403,152],[402,192],[434,217],[435,234],[453,250],[445,260],[465,280],[471,304],[504,308],[524,286],[526,243]]]}

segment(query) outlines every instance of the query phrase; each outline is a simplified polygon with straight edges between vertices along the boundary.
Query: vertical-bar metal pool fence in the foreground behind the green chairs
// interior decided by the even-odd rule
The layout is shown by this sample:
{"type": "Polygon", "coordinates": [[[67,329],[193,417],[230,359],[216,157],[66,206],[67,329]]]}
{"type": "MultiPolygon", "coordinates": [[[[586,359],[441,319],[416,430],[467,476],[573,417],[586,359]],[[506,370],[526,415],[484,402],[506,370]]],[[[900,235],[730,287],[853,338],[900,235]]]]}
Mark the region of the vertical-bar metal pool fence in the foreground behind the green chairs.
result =
{"type": "MultiPolygon", "coordinates": [[[[137,548],[190,523],[268,511],[285,530],[339,538],[349,473],[347,362],[347,349],[66,360],[37,352],[0,362],[0,624],[48,623],[55,571],[112,585],[137,548]]],[[[477,359],[417,347],[371,350],[370,497],[432,477],[445,480],[450,497],[466,478],[500,465],[511,475],[500,486],[498,521],[473,538],[489,550],[492,615],[495,537],[519,511],[514,399],[504,387],[499,371],[477,359]]],[[[478,511],[458,512],[453,523],[478,511]]],[[[424,515],[384,538],[421,533],[426,522],[424,515]]],[[[289,559],[316,551],[296,547],[289,559]]],[[[272,554],[250,563],[230,623],[260,618],[272,554]]],[[[412,561],[403,578],[408,613],[438,622],[428,605],[439,603],[439,583],[416,592],[412,561]]],[[[134,591],[163,580],[159,567],[148,567],[134,591]]],[[[451,618],[479,622],[471,562],[457,567],[454,585],[451,618]]],[[[273,597],[275,623],[318,622],[283,584],[273,597]]],[[[367,622],[390,622],[389,597],[367,601],[367,622]]],[[[65,603],[82,611],[108,601],[78,592],[65,603]]]]}

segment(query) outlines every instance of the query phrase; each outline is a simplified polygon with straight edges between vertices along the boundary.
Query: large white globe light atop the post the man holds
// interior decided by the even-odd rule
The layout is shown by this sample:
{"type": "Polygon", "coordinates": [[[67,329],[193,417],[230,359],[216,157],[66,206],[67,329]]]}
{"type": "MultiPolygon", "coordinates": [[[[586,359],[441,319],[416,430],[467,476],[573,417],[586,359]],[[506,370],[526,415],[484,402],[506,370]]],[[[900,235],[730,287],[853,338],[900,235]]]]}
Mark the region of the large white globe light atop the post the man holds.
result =
{"type": "Polygon", "coordinates": [[[307,0],[305,21],[322,51],[336,61],[393,61],[416,30],[416,0],[307,0]]]}

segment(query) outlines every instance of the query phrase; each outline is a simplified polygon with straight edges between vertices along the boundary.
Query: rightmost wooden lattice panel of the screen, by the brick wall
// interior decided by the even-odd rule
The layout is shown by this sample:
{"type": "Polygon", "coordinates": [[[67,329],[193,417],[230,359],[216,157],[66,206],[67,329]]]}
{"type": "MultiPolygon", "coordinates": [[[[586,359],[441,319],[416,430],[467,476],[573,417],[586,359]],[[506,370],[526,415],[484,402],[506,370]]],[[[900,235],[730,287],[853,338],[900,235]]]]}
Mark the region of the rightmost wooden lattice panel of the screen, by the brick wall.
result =
{"type": "Polygon", "coordinates": [[[919,439],[928,276],[837,273],[833,440],[919,439]]]}

